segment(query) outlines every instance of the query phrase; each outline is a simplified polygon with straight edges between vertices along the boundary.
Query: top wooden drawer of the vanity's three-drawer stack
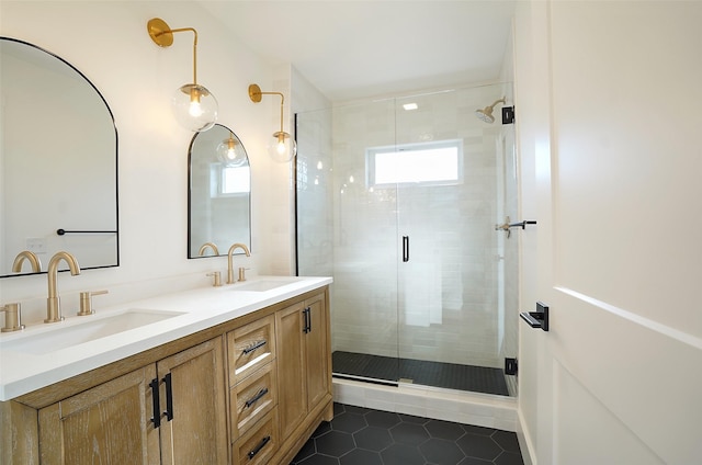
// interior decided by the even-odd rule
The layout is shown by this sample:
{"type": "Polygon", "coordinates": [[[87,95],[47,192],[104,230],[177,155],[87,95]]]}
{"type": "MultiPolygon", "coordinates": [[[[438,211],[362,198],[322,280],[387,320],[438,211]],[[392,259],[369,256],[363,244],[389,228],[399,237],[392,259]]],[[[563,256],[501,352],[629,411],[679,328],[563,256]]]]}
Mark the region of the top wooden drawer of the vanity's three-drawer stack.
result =
{"type": "Polygon", "coordinates": [[[229,386],[275,358],[275,317],[270,315],[227,333],[229,386]]]}

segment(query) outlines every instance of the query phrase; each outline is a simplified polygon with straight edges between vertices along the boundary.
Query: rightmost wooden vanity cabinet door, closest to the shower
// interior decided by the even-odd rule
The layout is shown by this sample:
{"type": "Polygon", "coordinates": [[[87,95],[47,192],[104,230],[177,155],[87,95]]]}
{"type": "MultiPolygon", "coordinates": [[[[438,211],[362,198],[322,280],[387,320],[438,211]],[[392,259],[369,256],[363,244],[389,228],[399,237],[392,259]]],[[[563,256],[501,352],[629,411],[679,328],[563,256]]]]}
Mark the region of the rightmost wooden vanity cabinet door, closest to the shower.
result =
{"type": "Polygon", "coordinates": [[[305,333],[307,362],[307,408],[312,410],[329,393],[329,345],[325,294],[305,300],[308,330],[305,333]]]}

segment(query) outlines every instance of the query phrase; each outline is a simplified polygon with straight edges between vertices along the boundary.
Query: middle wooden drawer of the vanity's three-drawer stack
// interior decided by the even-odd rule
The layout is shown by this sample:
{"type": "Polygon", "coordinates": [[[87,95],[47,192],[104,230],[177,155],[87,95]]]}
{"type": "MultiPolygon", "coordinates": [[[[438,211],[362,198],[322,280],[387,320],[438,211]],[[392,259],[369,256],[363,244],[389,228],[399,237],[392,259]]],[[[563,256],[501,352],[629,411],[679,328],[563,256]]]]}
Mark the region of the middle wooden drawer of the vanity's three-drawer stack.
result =
{"type": "Polygon", "coordinates": [[[233,441],[278,405],[276,386],[275,362],[271,362],[231,388],[233,441]]]}

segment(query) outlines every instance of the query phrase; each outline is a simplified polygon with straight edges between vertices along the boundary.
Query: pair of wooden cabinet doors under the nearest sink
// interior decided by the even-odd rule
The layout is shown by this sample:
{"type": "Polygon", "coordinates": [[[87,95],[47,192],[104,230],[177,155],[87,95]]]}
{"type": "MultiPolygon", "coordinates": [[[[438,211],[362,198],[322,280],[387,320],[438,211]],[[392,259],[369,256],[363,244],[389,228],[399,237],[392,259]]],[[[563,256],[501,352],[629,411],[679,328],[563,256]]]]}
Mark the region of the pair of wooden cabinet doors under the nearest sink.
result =
{"type": "Polygon", "coordinates": [[[41,463],[227,464],[225,410],[216,338],[42,408],[41,463]]]}

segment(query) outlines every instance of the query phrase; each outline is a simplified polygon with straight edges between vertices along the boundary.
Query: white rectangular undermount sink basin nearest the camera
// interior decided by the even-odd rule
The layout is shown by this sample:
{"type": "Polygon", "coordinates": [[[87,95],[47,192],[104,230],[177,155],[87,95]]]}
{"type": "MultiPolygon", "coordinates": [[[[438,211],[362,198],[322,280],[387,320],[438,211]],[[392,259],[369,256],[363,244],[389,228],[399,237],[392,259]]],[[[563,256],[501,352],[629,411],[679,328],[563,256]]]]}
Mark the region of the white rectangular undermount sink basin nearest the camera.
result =
{"type": "Polygon", "coordinates": [[[163,321],[168,318],[183,315],[180,311],[160,311],[146,309],[128,309],[117,315],[100,317],[93,315],[88,317],[71,318],[71,321],[52,324],[52,328],[20,336],[18,339],[1,341],[2,351],[23,352],[32,354],[43,354],[55,352],[72,345],[106,338],[107,336],[131,329],[141,328],[163,321]],[[93,319],[94,318],[94,319],[93,319]]]}

